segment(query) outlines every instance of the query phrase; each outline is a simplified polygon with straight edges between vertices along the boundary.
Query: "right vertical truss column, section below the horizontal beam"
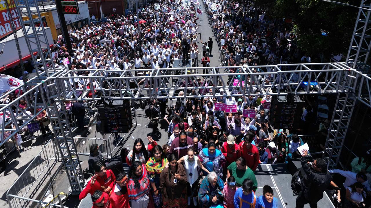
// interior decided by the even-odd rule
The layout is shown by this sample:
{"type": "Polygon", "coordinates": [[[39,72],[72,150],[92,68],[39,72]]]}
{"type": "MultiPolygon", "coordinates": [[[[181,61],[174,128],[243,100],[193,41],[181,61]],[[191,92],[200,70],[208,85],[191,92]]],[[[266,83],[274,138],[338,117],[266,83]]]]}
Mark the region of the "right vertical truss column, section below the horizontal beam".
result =
{"type": "Polygon", "coordinates": [[[335,110],[325,142],[323,158],[328,161],[328,167],[335,168],[338,165],[341,149],[349,128],[354,106],[357,101],[357,81],[359,73],[344,71],[343,82],[345,93],[338,93],[335,110]]]}

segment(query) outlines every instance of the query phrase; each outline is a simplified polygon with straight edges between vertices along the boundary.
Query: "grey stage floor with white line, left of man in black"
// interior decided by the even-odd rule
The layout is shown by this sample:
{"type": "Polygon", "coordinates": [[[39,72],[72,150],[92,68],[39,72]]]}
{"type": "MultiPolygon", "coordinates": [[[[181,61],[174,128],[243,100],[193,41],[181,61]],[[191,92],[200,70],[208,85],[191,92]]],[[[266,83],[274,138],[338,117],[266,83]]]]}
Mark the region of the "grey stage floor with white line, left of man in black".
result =
{"type": "MultiPolygon", "coordinates": [[[[274,197],[280,202],[281,208],[294,208],[296,197],[292,195],[291,178],[286,164],[266,165],[260,164],[255,173],[258,188],[256,196],[263,195],[263,186],[269,185],[273,188],[274,197]]],[[[319,208],[335,208],[330,198],[324,192],[324,197],[317,203],[319,208]]],[[[304,205],[309,208],[309,204],[304,205]]]]}

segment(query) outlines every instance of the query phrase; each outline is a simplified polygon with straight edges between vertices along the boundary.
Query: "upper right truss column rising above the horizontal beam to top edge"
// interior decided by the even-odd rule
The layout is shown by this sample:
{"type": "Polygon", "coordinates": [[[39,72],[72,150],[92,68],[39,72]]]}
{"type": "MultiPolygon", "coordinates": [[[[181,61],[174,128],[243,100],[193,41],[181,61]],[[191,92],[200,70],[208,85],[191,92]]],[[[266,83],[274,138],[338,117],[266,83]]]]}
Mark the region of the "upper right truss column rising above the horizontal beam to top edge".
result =
{"type": "Polygon", "coordinates": [[[371,11],[366,10],[371,9],[371,0],[361,0],[360,7],[364,9],[359,9],[358,11],[346,63],[349,67],[362,71],[362,73],[371,74],[369,71],[371,50],[371,27],[369,23],[371,11]]]}

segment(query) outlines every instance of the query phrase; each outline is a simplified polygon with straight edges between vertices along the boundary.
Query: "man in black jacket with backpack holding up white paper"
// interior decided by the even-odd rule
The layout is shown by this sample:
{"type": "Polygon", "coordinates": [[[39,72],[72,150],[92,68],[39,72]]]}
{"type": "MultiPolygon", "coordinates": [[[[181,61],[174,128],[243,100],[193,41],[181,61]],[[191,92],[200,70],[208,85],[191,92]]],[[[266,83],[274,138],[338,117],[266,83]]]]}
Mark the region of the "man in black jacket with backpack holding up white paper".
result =
{"type": "Polygon", "coordinates": [[[317,202],[322,199],[323,192],[332,180],[326,162],[317,158],[311,164],[306,161],[307,155],[308,151],[303,151],[301,163],[306,175],[302,180],[302,190],[296,198],[296,208],[303,208],[304,204],[309,204],[311,208],[317,208],[317,202]]]}

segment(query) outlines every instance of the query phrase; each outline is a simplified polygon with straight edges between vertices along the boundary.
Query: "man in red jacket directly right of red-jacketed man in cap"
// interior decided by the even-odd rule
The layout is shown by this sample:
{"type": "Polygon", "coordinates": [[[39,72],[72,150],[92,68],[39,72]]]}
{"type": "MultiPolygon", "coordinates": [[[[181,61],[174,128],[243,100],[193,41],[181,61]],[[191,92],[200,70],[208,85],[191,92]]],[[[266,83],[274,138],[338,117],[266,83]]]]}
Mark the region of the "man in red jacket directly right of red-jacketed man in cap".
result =
{"type": "Polygon", "coordinates": [[[240,143],[241,156],[246,160],[246,165],[255,171],[259,164],[259,151],[252,145],[255,135],[248,131],[245,135],[244,141],[240,143]]]}

